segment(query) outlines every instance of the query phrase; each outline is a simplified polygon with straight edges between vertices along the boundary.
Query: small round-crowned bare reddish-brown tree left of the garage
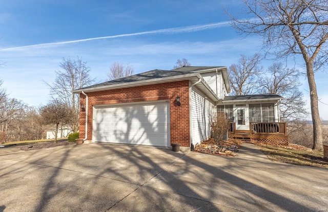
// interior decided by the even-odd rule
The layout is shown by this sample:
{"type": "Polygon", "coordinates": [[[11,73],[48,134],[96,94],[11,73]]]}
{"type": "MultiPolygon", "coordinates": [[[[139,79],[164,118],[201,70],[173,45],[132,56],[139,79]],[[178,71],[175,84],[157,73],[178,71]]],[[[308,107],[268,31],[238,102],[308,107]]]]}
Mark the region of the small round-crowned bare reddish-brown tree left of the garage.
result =
{"type": "Polygon", "coordinates": [[[44,124],[54,124],[55,140],[57,142],[57,133],[59,124],[69,124],[75,119],[73,109],[65,102],[53,100],[47,105],[40,107],[40,115],[44,124]]]}

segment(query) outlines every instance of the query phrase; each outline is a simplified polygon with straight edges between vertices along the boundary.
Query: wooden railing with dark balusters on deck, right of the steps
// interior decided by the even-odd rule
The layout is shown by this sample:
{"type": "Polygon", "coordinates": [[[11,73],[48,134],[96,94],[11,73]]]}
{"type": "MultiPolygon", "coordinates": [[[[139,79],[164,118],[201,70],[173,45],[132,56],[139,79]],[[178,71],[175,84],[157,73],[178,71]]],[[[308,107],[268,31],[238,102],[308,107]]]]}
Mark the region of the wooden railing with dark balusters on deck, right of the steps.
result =
{"type": "Polygon", "coordinates": [[[287,135],[287,124],[285,122],[259,123],[250,122],[250,130],[258,134],[283,134],[287,135]]]}

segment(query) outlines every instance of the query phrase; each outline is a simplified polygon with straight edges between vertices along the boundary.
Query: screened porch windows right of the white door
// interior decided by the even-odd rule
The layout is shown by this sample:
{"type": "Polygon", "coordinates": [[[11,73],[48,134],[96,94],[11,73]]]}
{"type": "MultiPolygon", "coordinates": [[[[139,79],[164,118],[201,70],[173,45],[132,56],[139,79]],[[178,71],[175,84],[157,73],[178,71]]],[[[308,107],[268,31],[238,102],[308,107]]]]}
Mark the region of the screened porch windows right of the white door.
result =
{"type": "Polygon", "coordinates": [[[249,116],[250,122],[275,122],[274,104],[250,104],[249,116]]]}

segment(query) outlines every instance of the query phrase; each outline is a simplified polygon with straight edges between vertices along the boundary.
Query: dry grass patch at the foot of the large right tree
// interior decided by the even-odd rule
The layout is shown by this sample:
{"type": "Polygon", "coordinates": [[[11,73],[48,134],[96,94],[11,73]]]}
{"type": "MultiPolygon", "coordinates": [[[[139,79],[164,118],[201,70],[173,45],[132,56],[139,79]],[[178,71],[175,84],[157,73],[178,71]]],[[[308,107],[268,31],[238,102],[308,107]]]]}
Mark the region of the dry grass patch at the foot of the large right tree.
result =
{"type": "Polygon", "coordinates": [[[264,144],[257,146],[273,161],[328,169],[328,161],[323,159],[323,152],[320,151],[313,151],[295,144],[286,147],[264,144]]]}

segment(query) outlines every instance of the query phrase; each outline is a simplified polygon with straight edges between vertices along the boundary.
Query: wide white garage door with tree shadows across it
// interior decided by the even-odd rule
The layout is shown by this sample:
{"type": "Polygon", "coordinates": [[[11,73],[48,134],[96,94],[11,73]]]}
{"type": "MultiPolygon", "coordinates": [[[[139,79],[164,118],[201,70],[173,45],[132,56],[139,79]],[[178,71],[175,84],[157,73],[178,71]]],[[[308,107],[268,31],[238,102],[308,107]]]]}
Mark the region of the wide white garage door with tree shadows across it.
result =
{"type": "Polygon", "coordinates": [[[168,103],[95,107],[94,142],[170,147],[168,103]]]}

